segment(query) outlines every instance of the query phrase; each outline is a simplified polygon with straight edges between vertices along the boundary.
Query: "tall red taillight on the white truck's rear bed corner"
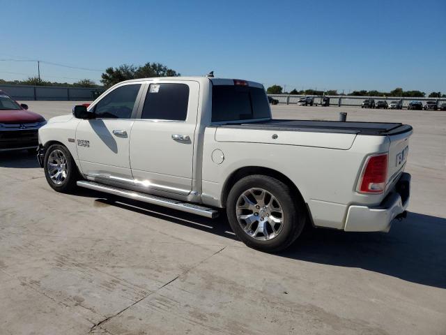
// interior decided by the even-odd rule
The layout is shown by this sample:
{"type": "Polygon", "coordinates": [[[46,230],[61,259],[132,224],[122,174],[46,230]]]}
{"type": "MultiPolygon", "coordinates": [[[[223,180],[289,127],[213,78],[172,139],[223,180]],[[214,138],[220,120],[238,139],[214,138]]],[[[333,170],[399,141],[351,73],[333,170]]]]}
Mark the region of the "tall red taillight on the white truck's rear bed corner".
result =
{"type": "Polygon", "coordinates": [[[358,191],[361,193],[382,193],[387,179],[388,154],[369,156],[365,163],[358,191]]]}

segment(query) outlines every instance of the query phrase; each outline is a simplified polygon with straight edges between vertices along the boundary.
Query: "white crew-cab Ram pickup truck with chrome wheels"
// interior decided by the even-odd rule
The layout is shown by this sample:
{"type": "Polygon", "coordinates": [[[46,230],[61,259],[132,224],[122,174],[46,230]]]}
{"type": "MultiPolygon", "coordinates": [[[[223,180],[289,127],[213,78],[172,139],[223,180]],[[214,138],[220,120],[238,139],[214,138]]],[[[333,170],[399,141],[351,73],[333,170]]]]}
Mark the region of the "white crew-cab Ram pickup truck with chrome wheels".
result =
{"type": "Polygon", "coordinates": [[[272,119],[261,84],[130,80],[39,130],[48,184],[214,218],[245,244],[289,246],[306,224],[388,231],[406,214],[412,127],[272,119]]]}

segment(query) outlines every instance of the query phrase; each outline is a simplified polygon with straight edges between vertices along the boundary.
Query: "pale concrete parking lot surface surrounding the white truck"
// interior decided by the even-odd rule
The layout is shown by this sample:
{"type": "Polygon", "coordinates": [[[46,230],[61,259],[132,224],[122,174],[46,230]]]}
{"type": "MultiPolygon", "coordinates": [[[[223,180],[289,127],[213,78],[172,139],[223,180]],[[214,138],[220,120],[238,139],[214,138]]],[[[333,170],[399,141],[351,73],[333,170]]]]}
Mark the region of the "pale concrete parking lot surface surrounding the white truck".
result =
{"type": "MultiPolygon", "coordinates": [[[[45,117],[72,102],[27,102],[45,117]]],[[[276,118],[411,124],[410,213],[388,234],[309,230],[246,248],[216,221],[52,191],[0,154],[0,334],[446,334],[446,112],[273,107],[276,118]]]]}

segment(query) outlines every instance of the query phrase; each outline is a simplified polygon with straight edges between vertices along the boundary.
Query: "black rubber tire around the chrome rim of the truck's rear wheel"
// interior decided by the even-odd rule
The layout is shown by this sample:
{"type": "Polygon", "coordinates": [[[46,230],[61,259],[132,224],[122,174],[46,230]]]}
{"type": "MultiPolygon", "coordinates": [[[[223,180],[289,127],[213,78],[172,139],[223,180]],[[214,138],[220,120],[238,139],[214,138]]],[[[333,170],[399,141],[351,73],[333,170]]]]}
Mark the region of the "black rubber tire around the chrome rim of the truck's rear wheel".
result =
{"type": "MultiPolygon", "coordinates": [[[[270,253],[282,251],[289,247],[299,237],[305,227],[307,218],[305,205],[295,197],[289,186],[286,186],[282,181],[261,174],[244,177],[233,185],[226,201],[226,214],[233,232],[243,243],[251,248],[270,253]],[[282,208],[282,228],[272,239],[260,240],[252,237],[245,232],[238,221],[237,202],[240,201],[241,195],[250,188],[263,188],[263,190],[268,191],[270,195],[277,199],[279,206],[282,208]]],[[[255,225],[258,227],[259,221],[253,223],[252,227],[255,225]]]]}

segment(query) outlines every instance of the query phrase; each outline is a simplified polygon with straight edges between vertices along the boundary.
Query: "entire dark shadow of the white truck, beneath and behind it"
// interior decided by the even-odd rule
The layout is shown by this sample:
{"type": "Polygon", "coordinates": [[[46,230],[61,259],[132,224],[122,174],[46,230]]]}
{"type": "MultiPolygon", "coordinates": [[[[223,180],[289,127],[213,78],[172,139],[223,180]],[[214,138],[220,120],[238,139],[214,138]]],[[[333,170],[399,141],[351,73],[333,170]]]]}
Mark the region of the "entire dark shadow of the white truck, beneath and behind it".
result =
{"type": "MultiPolygon", "coordinates": [[[[79,195],[79,194],[78,194],[79,195]]],[[[214,220],[125,198],[86,190],[97,196],[95,206],[112,205],[190,228],[238,240],[224,211],[214,220]]],[[[243,248],[240,249],[243,252],[243,248]]],[[[446,218],[408,213],[389,233],[357,233],[307,229],[295,244],[277,257],[337,267],[357,267],[404,281],[446,288],[446,218]]]]}

